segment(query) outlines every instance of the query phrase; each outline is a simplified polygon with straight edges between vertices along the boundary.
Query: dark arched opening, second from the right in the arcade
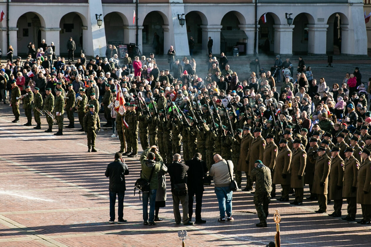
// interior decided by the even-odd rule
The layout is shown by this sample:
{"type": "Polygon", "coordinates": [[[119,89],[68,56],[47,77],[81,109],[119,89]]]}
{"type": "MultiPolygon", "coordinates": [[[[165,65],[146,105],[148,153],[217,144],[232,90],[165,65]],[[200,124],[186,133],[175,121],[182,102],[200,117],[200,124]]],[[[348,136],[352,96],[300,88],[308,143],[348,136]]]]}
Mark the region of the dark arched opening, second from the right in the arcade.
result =
{"type": "Polygon", "coordinates": [[[307,54],[309,40],[309,20],[306,13],[298,14],[294,18],[292,24],[295,25],[292,31],[292,53],[307,54]]]}

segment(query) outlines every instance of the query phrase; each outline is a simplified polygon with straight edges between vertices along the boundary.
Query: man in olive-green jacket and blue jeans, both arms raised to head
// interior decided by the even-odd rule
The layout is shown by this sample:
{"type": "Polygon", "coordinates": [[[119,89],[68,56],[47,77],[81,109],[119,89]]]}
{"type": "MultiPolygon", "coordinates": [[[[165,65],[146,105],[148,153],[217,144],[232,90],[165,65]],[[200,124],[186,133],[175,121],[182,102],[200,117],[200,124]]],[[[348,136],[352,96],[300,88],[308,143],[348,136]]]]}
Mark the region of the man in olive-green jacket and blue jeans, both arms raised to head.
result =
{"type": "Polygon", "coordinates": [[[151,146],[150,148],[144,150],[139,160],[142,167],[141,178],[144,178],[145,180],[150,182],[150,191],[143,192],[142,195],[143,224],[152,226],[156,224],[154,219],[155,219],[156,192],[158,188],[157,173],[160,171],[163,162],[162,157],[158,154],[157,146],[151,146]],[[149,217],[148,217],[148,200],[150,201],[149,217]]]}

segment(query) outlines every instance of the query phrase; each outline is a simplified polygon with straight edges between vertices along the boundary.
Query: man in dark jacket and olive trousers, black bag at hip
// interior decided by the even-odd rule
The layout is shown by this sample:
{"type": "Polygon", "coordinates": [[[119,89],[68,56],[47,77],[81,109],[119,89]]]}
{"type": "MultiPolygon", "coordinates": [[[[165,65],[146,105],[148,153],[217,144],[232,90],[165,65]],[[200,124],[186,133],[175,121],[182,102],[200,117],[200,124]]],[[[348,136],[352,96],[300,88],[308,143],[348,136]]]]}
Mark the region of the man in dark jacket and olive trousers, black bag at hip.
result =
{"type": "Polygon", "coordinates": [[[181,203],[183,208],[183,224],[191,226],[193,225],[193,222],[190,221],[190,218],[188,217],[188,193],[185,193],[184,190],[186,187],[185,183],[187,182],[187,176],[185,174],[187,170],[188,166],[181,163],[180,154],[174,154],[173,163],[168,166],[167,171],[170,175],[175,224],[180,224],[180,221],[182,220],[179,211],[179,203],[181,203]]]}

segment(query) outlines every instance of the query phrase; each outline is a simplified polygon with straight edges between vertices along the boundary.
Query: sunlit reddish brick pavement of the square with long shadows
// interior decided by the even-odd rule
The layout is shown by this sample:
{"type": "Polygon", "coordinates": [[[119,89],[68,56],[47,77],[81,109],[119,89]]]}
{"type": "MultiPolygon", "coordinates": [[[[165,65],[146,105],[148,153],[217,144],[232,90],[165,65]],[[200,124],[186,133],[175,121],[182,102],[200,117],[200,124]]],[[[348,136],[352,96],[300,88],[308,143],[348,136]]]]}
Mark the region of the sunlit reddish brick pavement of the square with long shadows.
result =
{"type": "MultiPolygon", "coordinates": [[[[76,131],[78,124],[75,129],[65,129],[63,136],[54,136],[43,131],[45,119],[42,130],[23,126],[26,118],[21,112],[20,122],[13,124],[10,107],[0,105],[1,247],[174,247],[181,245],[178,230],[187,230],[187,246],[265,246],[274,239],[272,213],[276,209],[282,216],[282,246],[370,246],[370,226],[316,214],[318,204],[308,200],[297,207],[272,199],[268,227],[257,228],[253,194],[237,191],[233,193],[235,221],[218,223],[213,187],[206,187],[204,193],[202,217],[206,224],[175,225],[168,190],[166,207],[160,209],[164,220],[156,226],[143,226],[141,201],[133,195],[140,170],[138,158],[126,158],[130,174],[126,177],[124,218],[128,223],[109,224],[104,172],[119,148],[118,139],[109,137],[111,130],[99,133],[97,153],[87,153],[86,137],[76,131]]],[[[280,190],[278,186],[278,198],[280,190]]],[[[332,206],[329,204],[328,213],[332,206]]],[[[359,219],[359,205],[357,212],[359,219]]],[[[342,213],[346,214],[346,204],[342,213]]]]}

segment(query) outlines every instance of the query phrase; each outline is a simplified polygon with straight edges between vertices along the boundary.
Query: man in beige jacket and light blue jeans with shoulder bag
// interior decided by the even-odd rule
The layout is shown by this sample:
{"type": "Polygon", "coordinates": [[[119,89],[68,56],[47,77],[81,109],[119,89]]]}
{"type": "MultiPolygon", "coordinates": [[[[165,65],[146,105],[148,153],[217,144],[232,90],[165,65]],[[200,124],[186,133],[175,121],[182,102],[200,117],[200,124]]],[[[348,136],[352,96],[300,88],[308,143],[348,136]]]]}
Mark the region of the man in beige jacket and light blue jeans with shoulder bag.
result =
{"type": "Polygon", "coordinates": [[[210,168],[209,174],[213,177],[215,184],[215,194],[218,198],[220,218],[219,222],[233,221],[232,217],[232,196],[233,191],[230,190],[231,178],[229,171],[233,179],[233,163],[224,160],[219,154],[214,155],[215,164],[210,168]],[[228,171],[229,167],[229,171],[228,171]]]}

